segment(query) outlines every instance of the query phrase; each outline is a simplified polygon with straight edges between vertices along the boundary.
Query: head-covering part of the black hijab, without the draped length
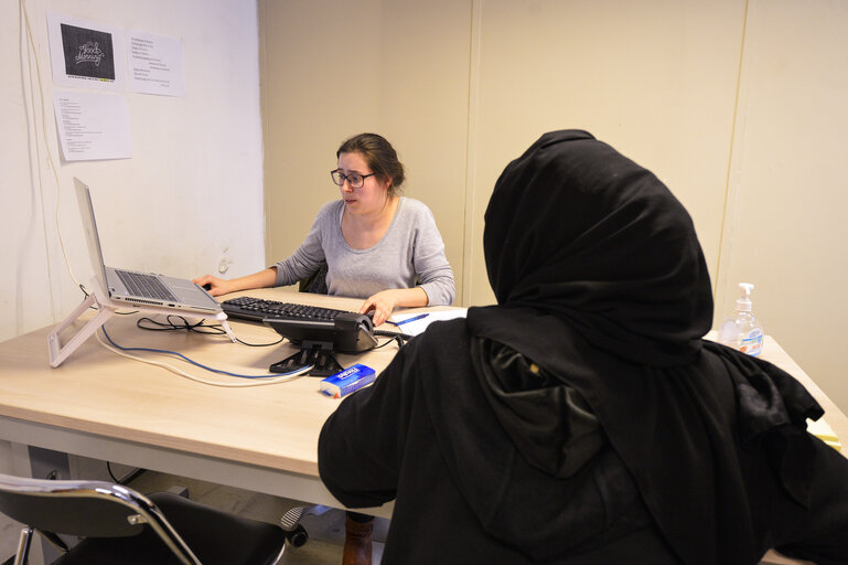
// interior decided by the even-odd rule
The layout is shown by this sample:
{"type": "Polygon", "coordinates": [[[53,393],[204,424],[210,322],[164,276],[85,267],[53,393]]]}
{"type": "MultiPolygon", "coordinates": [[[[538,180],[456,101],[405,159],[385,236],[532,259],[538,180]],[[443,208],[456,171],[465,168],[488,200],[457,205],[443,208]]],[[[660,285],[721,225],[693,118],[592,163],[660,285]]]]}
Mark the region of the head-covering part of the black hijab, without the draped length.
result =
{"type": "Polygon", "coordinates": [[[543,308],[648,365],[686,362],[712,322],[691,220],[650,171],[579,130],[544,135],[501,174],[484,248],[497,302],[543,308]]]}

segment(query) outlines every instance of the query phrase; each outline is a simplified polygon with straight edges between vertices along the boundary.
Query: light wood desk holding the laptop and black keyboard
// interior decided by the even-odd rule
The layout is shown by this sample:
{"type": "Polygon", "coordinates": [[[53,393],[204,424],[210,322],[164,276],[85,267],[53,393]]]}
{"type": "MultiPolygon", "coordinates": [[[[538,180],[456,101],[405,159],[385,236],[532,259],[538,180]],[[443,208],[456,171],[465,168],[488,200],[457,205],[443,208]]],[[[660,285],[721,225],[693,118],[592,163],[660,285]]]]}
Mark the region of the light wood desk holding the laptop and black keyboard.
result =
{"type": "MultiPolygon", "coordinates": [[[[250,294],[331,308],[356,309],[361,305],[359,300],[279,289],[250,294]]],[[[287,343],[248,348],[223,335],[141,331],[136,328],[136,318],[114,317],[106,323],[107,331],[124,347],[175,350],[234,372],[262,373],[272,362],[294,352],[287,343]]],[[[245,341],[268,342],[277,337],[264,326],[232,324],[245,341]]],[[[319,431],[339,401],[318,393],[316,379],[219,388],[120,358],[95,339],[51,369],[50,330],[0,344],[0,439],[341,507],[319,480],[316,460],[319,431]]],[[[340,355],[339,360],[345,366],[363,362],[379,372],[396,351],[396,345],[389,344],[362,356],[340,355]]],[[[770,337],[763,356],[809,390],[825,408],[828,424],[846,443],[848,418],[770,337]]],[[[234,381],[210,373],[203,376],[234,381]]],[[[391,508],[387,504],[369,512],[390,516],[391,508]]]]}

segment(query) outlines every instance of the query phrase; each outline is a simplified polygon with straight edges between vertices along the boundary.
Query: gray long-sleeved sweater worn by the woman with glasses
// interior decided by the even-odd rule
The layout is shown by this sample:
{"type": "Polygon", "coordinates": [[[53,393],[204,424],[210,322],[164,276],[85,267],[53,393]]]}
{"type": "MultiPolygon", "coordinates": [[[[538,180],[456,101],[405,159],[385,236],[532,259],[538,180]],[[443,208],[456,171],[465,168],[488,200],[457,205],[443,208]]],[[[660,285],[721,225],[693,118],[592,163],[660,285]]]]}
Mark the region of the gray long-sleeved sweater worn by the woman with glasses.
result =
{"type": "Polygon", "coordinates": [[[367,249],[354,249],[345,242],[343,212],[343,200],[321,206],[307,239],[275,265],[277,286],[293,285],[326,262],[330,295],[367,298],[390,288],[412,288],[418,278],[430,306],[453,301],[453,271],[427,205],[401,196],[386,234],[367,249]]]}

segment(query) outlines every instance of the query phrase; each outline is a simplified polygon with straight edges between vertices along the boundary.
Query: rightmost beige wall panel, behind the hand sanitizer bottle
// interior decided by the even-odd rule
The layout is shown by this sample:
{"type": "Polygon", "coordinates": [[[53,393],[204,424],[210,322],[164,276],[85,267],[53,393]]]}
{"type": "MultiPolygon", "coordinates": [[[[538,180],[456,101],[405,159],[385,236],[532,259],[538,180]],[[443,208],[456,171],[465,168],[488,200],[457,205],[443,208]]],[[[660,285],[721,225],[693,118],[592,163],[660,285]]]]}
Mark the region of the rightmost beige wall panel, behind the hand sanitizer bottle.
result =
{"type": "Polygon", "coordinates": [[[756,285],[765,331],[848,413],[848,3],[751,2],[718,306],[756,285]]]}

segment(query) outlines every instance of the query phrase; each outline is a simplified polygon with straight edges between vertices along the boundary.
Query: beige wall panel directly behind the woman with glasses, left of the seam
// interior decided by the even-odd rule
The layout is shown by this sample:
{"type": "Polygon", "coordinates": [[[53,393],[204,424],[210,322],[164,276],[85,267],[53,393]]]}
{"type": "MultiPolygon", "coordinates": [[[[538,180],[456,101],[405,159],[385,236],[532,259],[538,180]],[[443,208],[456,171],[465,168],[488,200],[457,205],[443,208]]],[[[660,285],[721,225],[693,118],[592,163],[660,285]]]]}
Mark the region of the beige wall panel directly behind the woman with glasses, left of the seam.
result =
{"type": "Polygon", "coordinates": [[[432,210],[448,259],[461,266],[471,6],[259,7],[268,263],[294,250],[320,205],[339,196],[330,171],[341,142],[375,131],[398,150],[404,193],[432,210]]]}

